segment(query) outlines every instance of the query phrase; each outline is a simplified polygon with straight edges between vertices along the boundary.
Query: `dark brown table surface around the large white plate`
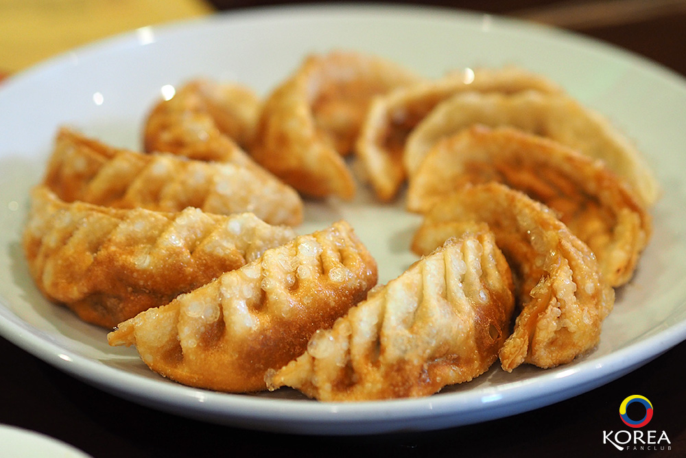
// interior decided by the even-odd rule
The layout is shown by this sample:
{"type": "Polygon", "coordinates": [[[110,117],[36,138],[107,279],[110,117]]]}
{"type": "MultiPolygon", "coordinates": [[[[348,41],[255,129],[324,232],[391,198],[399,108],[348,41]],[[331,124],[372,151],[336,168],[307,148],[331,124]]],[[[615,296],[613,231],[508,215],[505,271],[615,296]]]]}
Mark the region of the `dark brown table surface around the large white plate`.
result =
{"type": "MultiPolygon", "coordinates": [[[[292,2],[211,3],[219,10],[232,10],[292,2]]],[[[686,75],[686,1],[403,3],[545,21],[635,51],[686,75]]],[[[549,407],[442,431],[360,437],[281,435],[187,420],[85,385],[1,338],[0,354],[0,424],[45,433],[93,457],[686,457],[686,343],[619,380],[549,407]],[[633,394],[650,399],[650,428],[658,434],[665,431],[670,444],[622,452],[603,444],[604,431],[620,429],[619,404],[633,394]]],[[[2,450],[0,444],[0,457],[2,450]]]]}

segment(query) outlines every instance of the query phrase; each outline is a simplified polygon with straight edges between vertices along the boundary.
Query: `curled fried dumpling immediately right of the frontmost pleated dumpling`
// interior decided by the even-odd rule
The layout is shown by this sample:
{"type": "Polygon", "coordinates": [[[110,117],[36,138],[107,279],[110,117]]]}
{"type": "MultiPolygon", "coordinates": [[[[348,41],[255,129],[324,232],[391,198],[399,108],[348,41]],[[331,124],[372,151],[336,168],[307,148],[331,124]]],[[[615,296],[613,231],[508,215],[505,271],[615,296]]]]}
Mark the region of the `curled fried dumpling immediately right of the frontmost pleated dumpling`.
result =
{"type": "Polygon", "coordinates": [[[475,222],[495,234],[506,256],[521,312],[499,352],[501,366],[554,367],[600,340],[615,293],[595,255],[553,211],[500,183],[466,187],[442,199],[417,231],[413,249],[425,253],[475,222]]]}

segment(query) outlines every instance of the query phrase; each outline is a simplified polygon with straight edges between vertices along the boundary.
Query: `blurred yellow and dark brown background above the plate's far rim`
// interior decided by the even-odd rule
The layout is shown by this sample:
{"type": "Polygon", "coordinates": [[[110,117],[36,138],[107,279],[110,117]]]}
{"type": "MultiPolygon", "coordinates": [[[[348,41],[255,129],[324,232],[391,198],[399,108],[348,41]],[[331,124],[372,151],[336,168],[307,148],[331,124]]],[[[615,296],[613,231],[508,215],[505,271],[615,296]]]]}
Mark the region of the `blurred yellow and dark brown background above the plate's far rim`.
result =
{"type": "MultiPolygon", "coordinates": [[[[288,0],[0,0],[0,75],[145,25],[288,0]]],[[[340,3],[340,2],[339,2],[340,3]]],[[[600,38],[686,75],[686,0],[414,0],[512,16],[600,38]],[[678,51],[677,51],[678,50],[678,51]]]]}

